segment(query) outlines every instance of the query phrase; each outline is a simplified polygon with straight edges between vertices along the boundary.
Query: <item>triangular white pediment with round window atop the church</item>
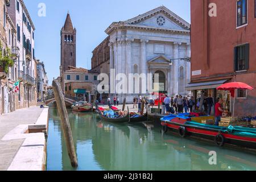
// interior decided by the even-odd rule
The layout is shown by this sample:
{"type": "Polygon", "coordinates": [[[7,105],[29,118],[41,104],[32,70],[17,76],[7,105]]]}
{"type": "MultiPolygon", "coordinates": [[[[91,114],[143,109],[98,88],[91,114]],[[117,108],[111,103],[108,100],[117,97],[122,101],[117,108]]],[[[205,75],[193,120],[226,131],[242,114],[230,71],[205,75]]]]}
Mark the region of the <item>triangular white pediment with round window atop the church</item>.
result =
{"type": "Polygon", "coordinates": [[[137,26],[166,28],[177,31],[187,31],[190,29],[190,24],[188,22],[164,6],[160,6],[135,18],[126,20],[123,23],[134,24],[137,26]]]}

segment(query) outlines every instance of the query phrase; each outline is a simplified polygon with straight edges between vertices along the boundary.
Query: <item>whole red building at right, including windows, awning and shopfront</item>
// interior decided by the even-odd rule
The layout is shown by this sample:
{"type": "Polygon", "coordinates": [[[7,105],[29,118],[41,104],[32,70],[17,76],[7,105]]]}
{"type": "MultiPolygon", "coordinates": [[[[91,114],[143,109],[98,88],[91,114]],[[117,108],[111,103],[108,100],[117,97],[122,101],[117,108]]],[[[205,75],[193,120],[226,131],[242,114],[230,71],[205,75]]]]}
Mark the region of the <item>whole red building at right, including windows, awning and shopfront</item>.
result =
{"type": "MultiPolygon", "coordinates": [[[[225,109],[233,111],[229,92],[216,90],[225,82],[245,82],[256,87],[256,2],[191,1],[191,83],[196,97],[212,94],[224,98],[225,109]],[[217,5],[210,17],[209,3],[217,5]]],[[[237,90],[236,115],[256,115],[256,90],[237,90]]]]}

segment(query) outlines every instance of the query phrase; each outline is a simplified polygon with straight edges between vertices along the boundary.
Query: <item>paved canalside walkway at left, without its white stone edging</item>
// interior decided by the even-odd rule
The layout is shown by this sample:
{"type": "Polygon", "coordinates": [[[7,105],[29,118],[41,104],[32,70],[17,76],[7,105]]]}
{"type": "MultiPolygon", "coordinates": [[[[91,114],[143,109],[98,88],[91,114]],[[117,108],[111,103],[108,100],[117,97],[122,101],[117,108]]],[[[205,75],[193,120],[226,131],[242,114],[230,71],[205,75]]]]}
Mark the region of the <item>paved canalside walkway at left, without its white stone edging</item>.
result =
{"type": "Polygon", "coordinates": [[[43,109],[30,107],[19,109],[13,113],[3,114],[0,117],[0,171],[7,170],[14,159],[16,152],[25,139],[2,141],[1,139],[18,125],[36,123],[43,109]]]}

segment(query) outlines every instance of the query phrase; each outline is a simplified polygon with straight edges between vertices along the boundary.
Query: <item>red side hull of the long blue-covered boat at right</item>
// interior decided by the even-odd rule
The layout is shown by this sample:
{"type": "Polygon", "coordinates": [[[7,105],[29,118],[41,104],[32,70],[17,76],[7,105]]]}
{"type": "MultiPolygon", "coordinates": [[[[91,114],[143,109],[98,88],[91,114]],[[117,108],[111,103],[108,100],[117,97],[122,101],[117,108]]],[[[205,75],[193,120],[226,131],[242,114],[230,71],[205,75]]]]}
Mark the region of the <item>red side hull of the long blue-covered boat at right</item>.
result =
{"type": "MultiPolygon", "coordinates": [[[[215,137],[219,134],[218,130],[205,129],[203,127],[190,126],[175,122],[162,121],[161,125],[166,125],[169,130],[175,131],[177,133],[179,132],[179,128],[184,126],[186,129],[186,136],[196,137],[199,139],[207,139],[210,140],[211,142],[214,142],[215,137]]],[[[221,133],[221,135],[223,135],[225,138],[225,144],[256,150],[256,138],[242,137],[229,133],[221,133]]]]}

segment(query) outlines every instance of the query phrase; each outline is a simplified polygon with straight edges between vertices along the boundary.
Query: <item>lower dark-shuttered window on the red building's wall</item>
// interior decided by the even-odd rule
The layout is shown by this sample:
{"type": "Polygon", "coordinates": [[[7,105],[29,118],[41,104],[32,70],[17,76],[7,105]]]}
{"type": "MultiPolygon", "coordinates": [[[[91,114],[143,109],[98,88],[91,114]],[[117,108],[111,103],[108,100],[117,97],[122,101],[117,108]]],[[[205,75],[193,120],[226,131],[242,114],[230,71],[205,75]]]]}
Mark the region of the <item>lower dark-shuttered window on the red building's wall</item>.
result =
{"type": "Polygon", "coordinates": [[[234,48],[234,70],[243,71],[249,69],[249,44],[234,48]]]}

